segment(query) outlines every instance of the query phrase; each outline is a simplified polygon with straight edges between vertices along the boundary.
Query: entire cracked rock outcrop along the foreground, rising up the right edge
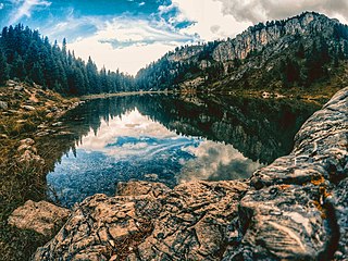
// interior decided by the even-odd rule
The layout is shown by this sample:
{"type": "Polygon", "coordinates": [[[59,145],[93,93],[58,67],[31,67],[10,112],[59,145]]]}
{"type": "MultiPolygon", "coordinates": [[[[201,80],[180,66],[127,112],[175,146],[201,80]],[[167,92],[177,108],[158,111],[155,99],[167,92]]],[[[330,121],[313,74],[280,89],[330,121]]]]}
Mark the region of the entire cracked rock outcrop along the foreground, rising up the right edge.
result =
{"type": "Polygon", "coordinates": [[[132,182],[76,206],[34,260],[347,260],[348,88],[248,181],[132,182]]]}

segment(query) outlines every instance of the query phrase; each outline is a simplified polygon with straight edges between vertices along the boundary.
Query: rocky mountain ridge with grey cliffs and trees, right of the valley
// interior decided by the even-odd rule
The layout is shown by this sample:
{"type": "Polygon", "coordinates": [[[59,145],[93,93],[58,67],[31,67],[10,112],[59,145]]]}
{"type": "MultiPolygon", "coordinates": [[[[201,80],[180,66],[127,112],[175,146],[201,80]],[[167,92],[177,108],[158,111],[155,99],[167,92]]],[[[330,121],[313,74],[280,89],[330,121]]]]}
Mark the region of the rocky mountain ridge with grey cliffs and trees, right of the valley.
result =
{"type": "Polygon", "coordinates": [[[341,88],[348,77],[348,26],[315,12],[259,23],[234,39],[185,46],[140,70],[140,89],[341,88]]]}

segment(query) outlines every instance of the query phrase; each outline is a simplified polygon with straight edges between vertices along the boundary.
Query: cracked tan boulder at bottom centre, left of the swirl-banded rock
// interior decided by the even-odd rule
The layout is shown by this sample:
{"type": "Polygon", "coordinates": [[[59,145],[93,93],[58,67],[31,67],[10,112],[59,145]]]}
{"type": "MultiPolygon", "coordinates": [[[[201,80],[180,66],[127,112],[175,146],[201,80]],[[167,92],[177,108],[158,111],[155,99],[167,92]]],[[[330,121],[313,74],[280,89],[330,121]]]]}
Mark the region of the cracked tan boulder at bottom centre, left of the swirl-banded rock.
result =
{"type": "Polygon", "coordinates": [[[147,186],[153,190],[146,195],[126,189],[127,196],[87,198],[34,260],[219,260],[225,243],[238,240],[237,204],[246,184],[188,183],[158,199],[151,196],[157,184],[147,186]]]}

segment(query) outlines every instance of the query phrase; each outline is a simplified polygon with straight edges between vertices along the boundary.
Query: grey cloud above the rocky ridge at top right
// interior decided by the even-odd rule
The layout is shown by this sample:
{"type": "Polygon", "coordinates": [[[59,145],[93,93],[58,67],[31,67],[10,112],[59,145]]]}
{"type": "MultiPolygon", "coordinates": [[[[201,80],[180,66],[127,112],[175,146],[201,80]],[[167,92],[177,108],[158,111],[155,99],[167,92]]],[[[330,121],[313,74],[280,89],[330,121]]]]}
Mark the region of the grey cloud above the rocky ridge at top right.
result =
{"type": "Polygon", "coordinates": [[[316,11],[328,16],[339,14],[348,20],[347,0],[216,0],[223,3],[223,12],[238,21],[252,23],[266,20],[281,20],[316,11]]]}

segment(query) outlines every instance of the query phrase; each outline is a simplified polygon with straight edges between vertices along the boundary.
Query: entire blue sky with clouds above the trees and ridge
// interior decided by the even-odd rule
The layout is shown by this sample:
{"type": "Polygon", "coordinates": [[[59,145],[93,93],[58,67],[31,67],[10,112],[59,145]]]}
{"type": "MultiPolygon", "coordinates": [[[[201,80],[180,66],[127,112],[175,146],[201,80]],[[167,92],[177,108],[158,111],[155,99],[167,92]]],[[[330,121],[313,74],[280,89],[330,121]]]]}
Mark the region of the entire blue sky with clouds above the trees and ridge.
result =
{"type": "Polygon", "coordinates": [[[347,0],[0,0],[0,25],[23,23],[99,67],[135,75],[175,47],[316,11],[348,22],[347,0]]]}

